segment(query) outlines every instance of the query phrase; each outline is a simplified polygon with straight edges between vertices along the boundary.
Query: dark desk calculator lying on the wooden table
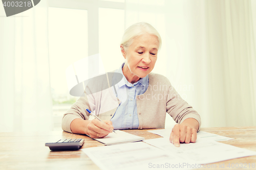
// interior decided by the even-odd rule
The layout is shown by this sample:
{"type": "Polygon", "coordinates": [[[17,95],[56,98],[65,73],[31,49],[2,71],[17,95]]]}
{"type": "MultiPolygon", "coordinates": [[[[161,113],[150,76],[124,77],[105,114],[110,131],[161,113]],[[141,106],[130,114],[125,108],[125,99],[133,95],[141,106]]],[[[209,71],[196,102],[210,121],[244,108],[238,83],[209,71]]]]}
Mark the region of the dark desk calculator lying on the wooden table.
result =
{"type": "Polygon", "coordinates": [[[79,150],[84,143],[84,139],[59,139],[56,142],[46,143],[52,151],[79,150]]]}

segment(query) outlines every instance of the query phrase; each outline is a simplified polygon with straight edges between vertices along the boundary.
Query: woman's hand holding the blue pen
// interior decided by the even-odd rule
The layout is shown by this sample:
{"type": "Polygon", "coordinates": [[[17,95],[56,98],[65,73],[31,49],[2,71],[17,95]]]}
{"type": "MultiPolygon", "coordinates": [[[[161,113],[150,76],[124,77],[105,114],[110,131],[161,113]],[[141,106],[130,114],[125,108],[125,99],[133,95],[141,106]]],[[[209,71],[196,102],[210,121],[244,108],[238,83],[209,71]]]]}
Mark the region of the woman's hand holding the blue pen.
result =
{"type": "Polygon", "coordinates": [[[107,136],[113,131],[114,127],[110,120],[103,120],[103,122],[100,122],[96,118],[90,120],[90,123],[87,125],[87,134],[92,138],[103,138],[107,136]]]}

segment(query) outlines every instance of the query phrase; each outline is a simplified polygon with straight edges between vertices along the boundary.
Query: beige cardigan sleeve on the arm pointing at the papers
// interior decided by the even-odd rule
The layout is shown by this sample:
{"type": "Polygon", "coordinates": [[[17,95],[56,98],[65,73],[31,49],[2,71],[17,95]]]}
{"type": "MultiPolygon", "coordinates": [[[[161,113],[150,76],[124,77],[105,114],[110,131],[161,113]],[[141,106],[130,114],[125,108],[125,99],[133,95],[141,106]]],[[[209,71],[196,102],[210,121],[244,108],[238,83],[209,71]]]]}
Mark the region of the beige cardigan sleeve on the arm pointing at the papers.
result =
{"type": "Polygon", "coordinates": [[[178,124],[181,124],[186,118],[195,118],[199,123],[199,131],[201,127],[201,117],[198,112],[181,98],[172,85],[169,86],[167,94],[166,112],[172,116],[178,124]]]}

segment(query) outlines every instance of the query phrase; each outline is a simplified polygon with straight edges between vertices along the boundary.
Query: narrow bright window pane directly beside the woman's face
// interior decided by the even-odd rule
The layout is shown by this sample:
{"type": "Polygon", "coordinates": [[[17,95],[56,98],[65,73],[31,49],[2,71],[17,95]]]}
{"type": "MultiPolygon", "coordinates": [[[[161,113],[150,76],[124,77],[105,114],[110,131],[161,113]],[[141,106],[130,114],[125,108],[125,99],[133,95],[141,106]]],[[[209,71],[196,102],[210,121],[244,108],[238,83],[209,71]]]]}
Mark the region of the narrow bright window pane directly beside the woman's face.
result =
{"type": "Polygon", "coordinates": [[[99,53],[106,72],[119,68],[124,61],[120,51],[124,31],[123,18],[124,10],[99,8],[99,53]]]}

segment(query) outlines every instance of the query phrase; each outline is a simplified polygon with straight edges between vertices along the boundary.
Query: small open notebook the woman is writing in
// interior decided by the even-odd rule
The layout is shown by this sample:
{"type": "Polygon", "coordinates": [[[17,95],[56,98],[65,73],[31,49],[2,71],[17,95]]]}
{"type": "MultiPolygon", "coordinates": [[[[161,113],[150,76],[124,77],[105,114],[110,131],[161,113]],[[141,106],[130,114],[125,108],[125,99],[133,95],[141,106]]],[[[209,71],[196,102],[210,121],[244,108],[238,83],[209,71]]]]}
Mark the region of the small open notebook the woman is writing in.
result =
{"type": "Polygon", "coordinates": [[[116,133],[112,132],[108,136],[104,138],[94,138],[104,145],[114,145],[121,143],[129,143],[144,140],[144,137],[132,135],[130,133],[126,133],[124,131],[115,130],[116,133]]]}

